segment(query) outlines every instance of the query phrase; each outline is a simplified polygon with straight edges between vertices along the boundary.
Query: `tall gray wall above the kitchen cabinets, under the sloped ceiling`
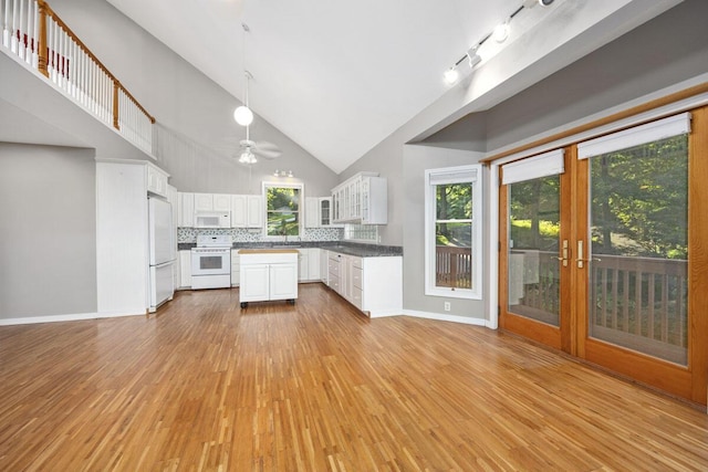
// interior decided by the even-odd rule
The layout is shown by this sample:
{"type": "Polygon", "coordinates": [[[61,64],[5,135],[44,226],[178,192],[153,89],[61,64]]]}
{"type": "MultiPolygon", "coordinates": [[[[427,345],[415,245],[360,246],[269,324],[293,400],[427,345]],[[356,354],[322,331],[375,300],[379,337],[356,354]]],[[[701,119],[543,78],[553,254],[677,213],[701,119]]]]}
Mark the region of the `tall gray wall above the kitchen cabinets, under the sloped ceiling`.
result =
{"type": "Polygon", "coordinates": [[[277,168],[291,169],[295,180],[306,182],[306,196],[327,196],[337,183],[331,169],[259,116],[251,138],[277,144],[283,155],[251,169],[238,165],[232,156],[246,130],[233,122],[240,104],[233,96],[106,1],[53,0],[51,6],[156,117],[157,164],[178,190],[256,193],[277,168]]]}

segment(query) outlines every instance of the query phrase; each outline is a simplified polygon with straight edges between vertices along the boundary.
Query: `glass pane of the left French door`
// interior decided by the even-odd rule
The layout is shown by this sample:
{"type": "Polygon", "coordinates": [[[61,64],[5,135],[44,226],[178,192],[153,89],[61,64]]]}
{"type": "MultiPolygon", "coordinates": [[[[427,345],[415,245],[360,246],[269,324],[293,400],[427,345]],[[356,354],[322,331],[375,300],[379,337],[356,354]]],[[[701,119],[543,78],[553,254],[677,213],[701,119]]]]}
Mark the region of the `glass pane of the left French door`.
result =
{"type": "Polygon", "coordinates": [[[509,312],[560,325],[560,176],[509,185],[509,312]]]}

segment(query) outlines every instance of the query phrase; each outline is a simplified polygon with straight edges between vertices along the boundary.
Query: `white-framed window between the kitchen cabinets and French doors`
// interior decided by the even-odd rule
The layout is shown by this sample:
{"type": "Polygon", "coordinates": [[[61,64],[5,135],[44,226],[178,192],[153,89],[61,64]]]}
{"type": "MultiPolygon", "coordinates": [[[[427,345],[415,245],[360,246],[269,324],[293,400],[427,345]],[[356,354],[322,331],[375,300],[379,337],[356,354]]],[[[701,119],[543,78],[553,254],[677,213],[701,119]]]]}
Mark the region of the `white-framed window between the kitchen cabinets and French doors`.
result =
{"type": "Polygon", "coordinates": [[[425,171],[426,295],[481,298],[481,166],[425,171]]]}

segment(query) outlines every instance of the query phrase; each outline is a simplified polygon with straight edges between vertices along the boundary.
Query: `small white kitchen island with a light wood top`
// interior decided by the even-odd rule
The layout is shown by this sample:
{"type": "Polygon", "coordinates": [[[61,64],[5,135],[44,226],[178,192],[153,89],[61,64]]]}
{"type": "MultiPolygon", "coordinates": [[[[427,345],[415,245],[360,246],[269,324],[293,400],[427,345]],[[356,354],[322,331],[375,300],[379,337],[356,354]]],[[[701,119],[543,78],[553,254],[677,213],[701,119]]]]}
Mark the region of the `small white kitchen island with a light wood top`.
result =
{"type": "Polygon", "coordinates": [[[298,255],[295,249],[241,249],[239,302],[298,298],[298,255]]]}

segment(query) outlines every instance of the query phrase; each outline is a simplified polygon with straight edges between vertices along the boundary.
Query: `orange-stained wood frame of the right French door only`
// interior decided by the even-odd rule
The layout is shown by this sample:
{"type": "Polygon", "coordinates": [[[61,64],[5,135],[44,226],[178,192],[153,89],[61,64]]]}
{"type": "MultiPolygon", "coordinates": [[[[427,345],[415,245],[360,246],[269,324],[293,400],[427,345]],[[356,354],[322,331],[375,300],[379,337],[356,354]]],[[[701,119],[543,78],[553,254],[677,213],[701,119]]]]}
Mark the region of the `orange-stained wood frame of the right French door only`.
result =
{"type": "MultiPolygon", "coordinates": [[[[687,326],[687,366],[663,360],[643,353],[622,348],[610,343],[591,338],[587,322],[589,270],[577,269],[574,277],[575,312],[577,319],[577,356],[620,375],[659,388],[694,402],[706,405],[708,387],[708,107],[691,111],[693,129],[689,134],[688,157],[688,232],[689,232],[689,286],[687,326]],[[700,157],[704,156],[704,157],[700,157]],[[705,308],[701,308],[705,307],[705,308]],[[701,314],[700,311],[704,311],[701,314]]],[[[575,147],[575,146],[573,146],[575,147]]],[[[589,166],[590,159],[576,161],[575,212],[577,240],[586,240],[589,234],[589,166]]]]}

